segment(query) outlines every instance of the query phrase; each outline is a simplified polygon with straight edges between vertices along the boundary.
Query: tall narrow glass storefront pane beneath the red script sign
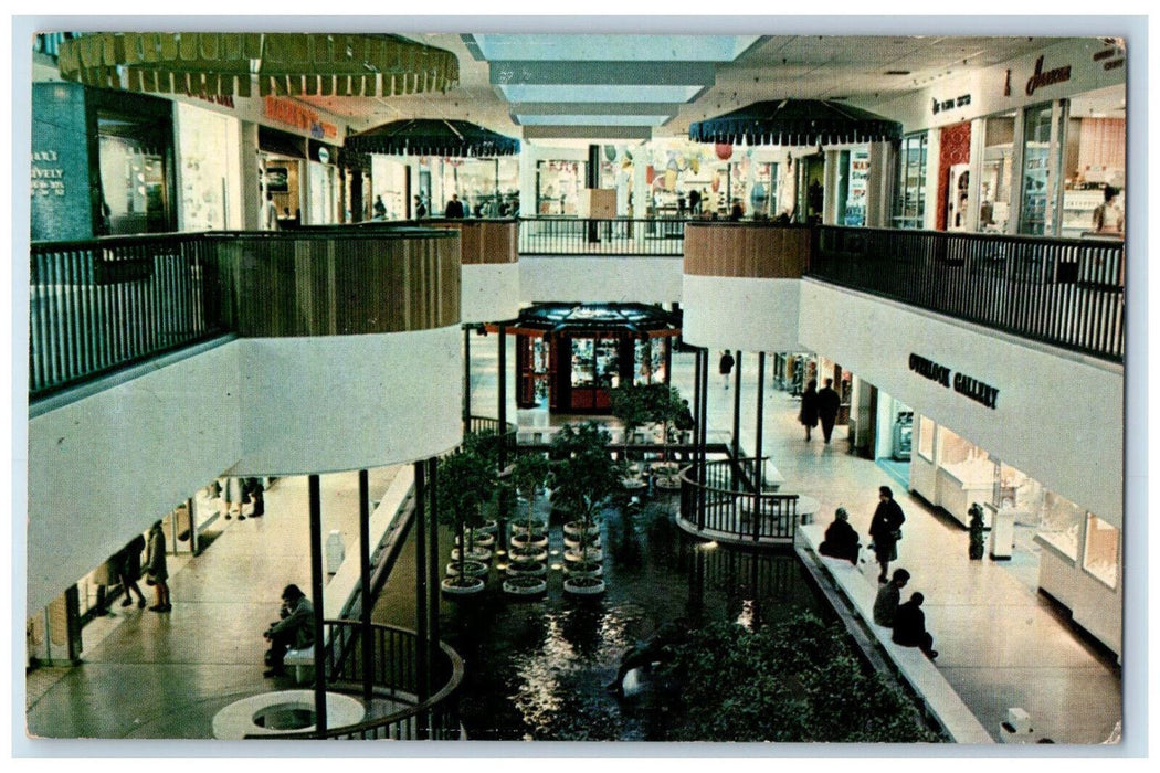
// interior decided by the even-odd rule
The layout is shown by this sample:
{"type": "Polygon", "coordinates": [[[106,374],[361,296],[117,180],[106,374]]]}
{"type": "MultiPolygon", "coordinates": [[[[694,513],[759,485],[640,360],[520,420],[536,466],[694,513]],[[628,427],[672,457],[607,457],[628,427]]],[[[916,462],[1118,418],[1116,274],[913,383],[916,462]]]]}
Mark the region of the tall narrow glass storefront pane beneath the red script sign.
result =
{"type": "Polygon", "coordinates": [[[1021,234],[1052,235],[1058,224],[1056,200],[1059,197],[1059,146],[1061,126],[1053,116],[1063,111],[1052,104],[1028,108],[1023,114],[1023,204],[1020,210],[1021,234]]]}

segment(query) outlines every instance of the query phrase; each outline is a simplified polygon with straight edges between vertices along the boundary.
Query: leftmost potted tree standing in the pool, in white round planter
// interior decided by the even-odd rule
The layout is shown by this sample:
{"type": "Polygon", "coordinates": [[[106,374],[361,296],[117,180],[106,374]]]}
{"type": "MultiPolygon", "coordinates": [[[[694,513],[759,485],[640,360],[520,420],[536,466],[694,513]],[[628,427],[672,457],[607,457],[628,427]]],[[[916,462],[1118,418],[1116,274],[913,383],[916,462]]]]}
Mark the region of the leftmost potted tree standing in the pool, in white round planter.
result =
{"type": "Polygon", "coordinates": [[[449,595],[484,590],[491,550],[473,545],[474,530],[484,523],[484,506],[495,494],[494,464],[467,436],[463,447],[438,464],[440,518],[455,526],[461,547],[451,552],[448,577],[441,583],[449,595]],[[462,549],[466,546],[466,549],[462,549]]]}

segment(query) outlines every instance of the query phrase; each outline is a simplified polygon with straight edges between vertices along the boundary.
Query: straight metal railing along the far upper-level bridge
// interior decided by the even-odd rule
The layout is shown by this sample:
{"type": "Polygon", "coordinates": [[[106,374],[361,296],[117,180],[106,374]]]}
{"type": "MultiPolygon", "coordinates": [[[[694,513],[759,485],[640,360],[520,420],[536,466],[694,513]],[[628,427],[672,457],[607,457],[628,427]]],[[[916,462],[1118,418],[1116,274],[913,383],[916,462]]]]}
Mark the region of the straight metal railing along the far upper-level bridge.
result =
{"type": "Polygon", "coordinates": [[[687,220],[534,218],[520,220],[521,255],[684,254],[687,220]]]}

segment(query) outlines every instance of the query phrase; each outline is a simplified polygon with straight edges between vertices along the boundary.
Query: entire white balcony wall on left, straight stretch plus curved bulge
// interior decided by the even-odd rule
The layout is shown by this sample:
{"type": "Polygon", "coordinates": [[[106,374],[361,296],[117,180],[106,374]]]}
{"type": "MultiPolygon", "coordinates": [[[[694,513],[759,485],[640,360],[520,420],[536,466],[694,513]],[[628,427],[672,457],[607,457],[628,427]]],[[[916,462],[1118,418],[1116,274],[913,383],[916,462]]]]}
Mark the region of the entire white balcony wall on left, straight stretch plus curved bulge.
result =
{"type": "Polygon", "coordinates": [[[234,340],[28,423],[28,608],[216,476],[361,469],[459,443],[458,324],[234,340]]]}

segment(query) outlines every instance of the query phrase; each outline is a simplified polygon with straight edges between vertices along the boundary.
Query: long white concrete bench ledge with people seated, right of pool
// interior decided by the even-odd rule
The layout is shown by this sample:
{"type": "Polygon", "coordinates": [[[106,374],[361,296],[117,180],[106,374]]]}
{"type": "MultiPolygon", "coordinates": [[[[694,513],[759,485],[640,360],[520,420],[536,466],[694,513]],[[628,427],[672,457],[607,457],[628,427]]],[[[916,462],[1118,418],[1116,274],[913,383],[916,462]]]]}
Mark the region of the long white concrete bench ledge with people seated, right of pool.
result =
{"type": "Polygon", "coordinates": [[[806,548],[829,575],[854,611],[863,619],[867,630],[893,662],[901,679],[919,695],[947,735],[960,744],[995,743],[947,678],[938,672],[937,666],[916,647],[896,644],[891,641],[891,629],[873,621],[873,601],[878,595],[878,564],[868,559],[865,563],[855,567],[844,559],[832,559],[818,553],[818,546],[821,545],[826,533],[826,527],[821,524],[800,526],[797,533],[799,546],[806,548]],[[864,570],[865,567],[869,567],[869,571],[864,570]]]}

